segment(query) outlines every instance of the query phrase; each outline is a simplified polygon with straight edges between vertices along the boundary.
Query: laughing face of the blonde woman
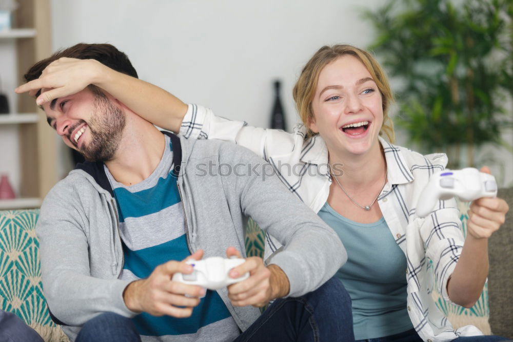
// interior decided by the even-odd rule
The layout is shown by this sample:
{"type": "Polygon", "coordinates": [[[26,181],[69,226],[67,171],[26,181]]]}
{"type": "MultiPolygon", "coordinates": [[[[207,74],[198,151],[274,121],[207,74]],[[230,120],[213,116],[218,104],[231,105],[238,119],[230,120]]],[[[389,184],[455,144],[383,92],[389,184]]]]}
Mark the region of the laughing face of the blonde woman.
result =
{"type": "Polygon", "coordinates": [[[312,109],[310,129],[320,134],[328,150],[363,155],[379,148],[381,93],[356,57],[343,55],[321,70],[312,109]]]}

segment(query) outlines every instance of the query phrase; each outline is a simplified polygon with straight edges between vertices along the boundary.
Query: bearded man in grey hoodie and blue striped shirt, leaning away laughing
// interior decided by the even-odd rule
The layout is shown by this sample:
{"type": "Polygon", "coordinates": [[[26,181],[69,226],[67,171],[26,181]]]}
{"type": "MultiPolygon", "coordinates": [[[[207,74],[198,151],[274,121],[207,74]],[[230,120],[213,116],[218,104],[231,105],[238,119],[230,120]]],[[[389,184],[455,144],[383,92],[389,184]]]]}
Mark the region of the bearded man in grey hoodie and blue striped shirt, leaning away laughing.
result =
{"type": "MultiPolygon", "coordinates": [[[[35,64],[16,91],[54,91],[60,78],[45,74],[60,67],[53,63],[60,58],[137,77],[113,46],[77,44],[35,64]]],[[[346,260],[343,245],[268,176],[271,168],[239,146],[163,134],[117,100],[115,89],[101,87],[79,84],[42,106],[49,125],[88,160],[52,188],[36,227],[48,307],[68,336],[352,339],[349,297],[330,279],[346,260]],[[250,277],[227,289],[171,280],[192,272],[186,258],[243,257],[245,216],[284,249],[266,264],[247,258],[230,276],[250,277]],[[260,316],[258,308],[275,298],[260,316]]]]}

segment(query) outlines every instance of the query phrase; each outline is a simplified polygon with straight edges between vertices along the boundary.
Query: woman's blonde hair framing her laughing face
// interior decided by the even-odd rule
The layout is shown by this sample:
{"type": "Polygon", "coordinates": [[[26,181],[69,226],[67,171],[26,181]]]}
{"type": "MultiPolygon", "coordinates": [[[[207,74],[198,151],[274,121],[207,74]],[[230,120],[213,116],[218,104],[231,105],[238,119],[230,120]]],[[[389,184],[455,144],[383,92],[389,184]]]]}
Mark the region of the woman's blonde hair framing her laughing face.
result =
{"type": "Polygon", "coordinates": [[[309,128],[309,124],[314,119],[311,104],[315,96],[315,89],[317,89],[319,74],[326,65],[346,54],[358,58],[360,62],[365,65],[374,82],[376,82],[381,93],[383,104],[383,125],[381,126],[380,135],[386,135],[388,140],[393,143],[395,133],[393,131],[392,120],[388,116],[388,107],[390,103],[393,102],[393,96],[385,73],[369,52],[351,45],[323,46],[315,52],[308,63],[306,63],[303,71],[301,71],[301,75],[292,90],[292,94],[295,105],[298,108],[299,116],[308,129],[307,136],[310,137],[314,135],[313,131],[309,128]]]}

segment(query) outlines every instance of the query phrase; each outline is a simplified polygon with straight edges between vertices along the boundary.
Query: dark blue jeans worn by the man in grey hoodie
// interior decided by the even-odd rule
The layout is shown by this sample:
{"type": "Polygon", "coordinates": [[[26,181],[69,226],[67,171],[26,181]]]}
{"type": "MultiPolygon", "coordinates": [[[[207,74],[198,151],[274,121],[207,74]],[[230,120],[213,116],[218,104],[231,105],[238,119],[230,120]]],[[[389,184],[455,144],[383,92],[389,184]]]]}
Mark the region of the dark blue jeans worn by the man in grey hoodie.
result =
{"type": "MultiPolygon", "coordinates": [[[[113,313],[86,322],[76,338],[76,342],[140,340],[132,321],[113,313]]],[[[351,298],[342,282],[331,278],[304,296],[275,300],[235,341],[354,341],[351,298]]]]}

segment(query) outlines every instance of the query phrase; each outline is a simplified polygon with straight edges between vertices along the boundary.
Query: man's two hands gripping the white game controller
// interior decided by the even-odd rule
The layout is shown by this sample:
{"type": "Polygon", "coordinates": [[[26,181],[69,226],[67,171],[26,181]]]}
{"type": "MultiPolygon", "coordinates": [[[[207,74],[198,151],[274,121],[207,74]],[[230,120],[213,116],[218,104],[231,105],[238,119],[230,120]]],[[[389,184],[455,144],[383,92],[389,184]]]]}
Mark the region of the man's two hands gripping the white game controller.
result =
{"type": "MultiPolygon", "coordinates": [[[[226,256],[241,258],[233,247],[226,250],[226,256]]],[[[159,265],[146,279],[131,282],[123,293],[127,308],[153,316],[189,317],[206,289],[174,279],[184,279],[184,276],[188,279],[186,275],[193,273],[191,260],[201,260],[202,257],[203,251],[196,251],[183,261],[168,261],[159,265]],[[181,273],[179,277],[175,276],[177,273],[181,273]]],[[[270,300],[286,296],[289,292],[285,273],[277,265],[265,267],[262,258],[245,259],[229,271],[229,276],[244,279],[228,286],[228,297],[234,306],[263,307],[270,300]],[[249,277],[243,277],[247,273],[249,277]]]]}

